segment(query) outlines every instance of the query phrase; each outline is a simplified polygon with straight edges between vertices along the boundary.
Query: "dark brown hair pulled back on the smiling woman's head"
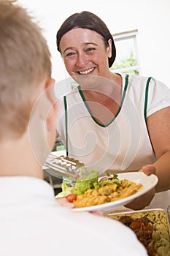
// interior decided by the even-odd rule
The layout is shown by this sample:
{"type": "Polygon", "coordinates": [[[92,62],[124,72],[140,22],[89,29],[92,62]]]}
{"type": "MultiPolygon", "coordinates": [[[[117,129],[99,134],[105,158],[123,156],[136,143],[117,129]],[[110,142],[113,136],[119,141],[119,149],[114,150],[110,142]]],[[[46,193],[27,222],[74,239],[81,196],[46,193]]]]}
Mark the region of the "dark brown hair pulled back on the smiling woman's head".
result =
{"type": "Polygon", "coordinates": [[[104,44],[106,45],[106,47],[108,46],[108,40],[112,40],[112,57],[108,58],[109,67],[112,67],[112,64],[115,61],[116,57],[115,43],[112,34],[110,33],[109,29],[107,29],[107,26],[104,23],[104,21],[101,20],[101,18],[98,18],[98,16],[93,14],[92,12],[84,11],[80,13],[74,13],[63,22],[63,24],[57,32],[58,51],[61,52],[61,37],[63,37],[63,35],[66,34],[66,32],[74,28],[90,29],[96,31],[98,34],[101,35],[101,37],[103,37],[104,44]]]}

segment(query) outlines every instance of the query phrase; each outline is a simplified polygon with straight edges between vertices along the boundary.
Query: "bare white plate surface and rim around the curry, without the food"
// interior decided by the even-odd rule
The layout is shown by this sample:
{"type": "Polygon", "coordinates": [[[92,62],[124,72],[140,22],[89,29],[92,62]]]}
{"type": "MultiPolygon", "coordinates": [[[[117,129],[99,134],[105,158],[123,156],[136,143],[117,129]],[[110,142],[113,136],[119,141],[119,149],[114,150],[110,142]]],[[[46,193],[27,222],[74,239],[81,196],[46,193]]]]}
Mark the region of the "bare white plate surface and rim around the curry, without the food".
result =
{"type": "Polygon", "coordinates": [[[142,183],[143,187],[139,190],[139,192],[136,192],[134,195],[130,195],[129,197],[125,197],[120,200],[116,200],[114,202],[110,203],[103,203],[101,205],[97,206],[88,206],[88,207],[82,207],[82,208],[73,208],[74,211],[99,211],[102,210],[104,212],[111,211],[113,208],[116,208],[117,206],[124,206],[127,203],[130,203],[132,200],[134,200],[136,197],[139,197],[146,192],[148,192],[150,189],[156,186],[158,183],[158,177],[154,174],[151,174],[150,176],[145,175],[142,172],[129,172],[129,173],[119,173],[118,178],[120,180],[123,180],[124,178],[128,179],[128,181],[134,181],[136,184],[142,183]]]}

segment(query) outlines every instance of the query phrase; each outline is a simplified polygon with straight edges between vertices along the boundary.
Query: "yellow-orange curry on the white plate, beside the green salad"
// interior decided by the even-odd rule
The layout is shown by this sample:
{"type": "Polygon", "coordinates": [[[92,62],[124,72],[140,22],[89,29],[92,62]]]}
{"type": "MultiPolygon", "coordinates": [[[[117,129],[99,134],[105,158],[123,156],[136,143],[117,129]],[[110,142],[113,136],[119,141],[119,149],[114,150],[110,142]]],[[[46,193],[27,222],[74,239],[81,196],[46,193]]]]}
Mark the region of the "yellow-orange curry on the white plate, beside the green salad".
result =
{"type": "Polygon", "coordinates": [[[102,203],[109,203],[115,200],[120,200],[130,195],[134,195],[143,186],[142,184],[136,184],[133,181],[124,179],[122,181],[117,180],[115,184],[110,184],[109,179],[107,181],[98,182],[98,189],[88,189],[82,195],[77,195],[77,199],[74,200],[76,208],[96,206],[102,203]]]}

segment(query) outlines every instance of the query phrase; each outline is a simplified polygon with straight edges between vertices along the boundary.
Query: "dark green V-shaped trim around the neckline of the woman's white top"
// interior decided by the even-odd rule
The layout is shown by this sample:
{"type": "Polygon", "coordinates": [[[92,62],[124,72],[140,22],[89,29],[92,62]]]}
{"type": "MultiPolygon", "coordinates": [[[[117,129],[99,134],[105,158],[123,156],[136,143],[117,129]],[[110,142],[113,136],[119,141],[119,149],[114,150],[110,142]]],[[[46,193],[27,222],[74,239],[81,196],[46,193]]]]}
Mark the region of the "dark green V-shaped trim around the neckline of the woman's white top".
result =
{"type": "MultiPolygon", "coordinates": [[[[120,110],[122,109],[123,101],[124,101],[124,99],[125,99],[125,93],[126,93],[127,88],[128,88],[128,77],[129,77],[128,75],[125,76],[125,88],[124,88],[124,90],[123,90],[123,97],[122,97],[121,102],[120,102],[120,107],[119,107],[119,109],[117,110],[117,113],[116,113],[116,115],[114,116],[114,118],[112,118],[112,120],[109,122],[109,124],[112,124],[112,122],[115,120],[115,118],[117,117],[117,115],[120,113],[120,110]]],[[[88,113],[90,113],[91,118],[93,118],[93,121],[95,121],[96,124],[98,124],[100,127],[108,127],[109,124],[107,124],[107,125],[100,124],[100,123],[93,117],[93,114],[91,113],[90,108],[88,107],[88,104],[87,104],[87,102],[86,102],[86,100],[85,100],[84,94],[82,93],[82,90],[81,90],[81,88],[80,88],[80,85],[77,86],[77,89],[79,90],[80,96],[82,97],[82,101],[84,102],[85,107],[88,109],[88,113]]]]}

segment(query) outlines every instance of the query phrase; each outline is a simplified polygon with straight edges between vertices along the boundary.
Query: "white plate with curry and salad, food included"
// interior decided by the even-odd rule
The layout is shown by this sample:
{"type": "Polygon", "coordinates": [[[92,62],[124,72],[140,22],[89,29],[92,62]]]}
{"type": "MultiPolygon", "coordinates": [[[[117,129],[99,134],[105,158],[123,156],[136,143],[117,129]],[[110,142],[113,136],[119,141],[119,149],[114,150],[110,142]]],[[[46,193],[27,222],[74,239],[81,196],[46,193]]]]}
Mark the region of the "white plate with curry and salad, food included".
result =
{"type": "Polygon", "coordinates": [[[144,195],[158,183],[158,177],[142,172],[119,173],[98,178],[96,171],[82,181],[63,181],[62,192],[56,198],[66,197],[74,203],[74,211],[112,211],[144,195]]]}

